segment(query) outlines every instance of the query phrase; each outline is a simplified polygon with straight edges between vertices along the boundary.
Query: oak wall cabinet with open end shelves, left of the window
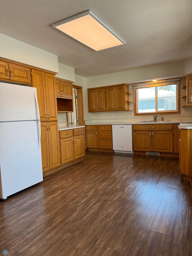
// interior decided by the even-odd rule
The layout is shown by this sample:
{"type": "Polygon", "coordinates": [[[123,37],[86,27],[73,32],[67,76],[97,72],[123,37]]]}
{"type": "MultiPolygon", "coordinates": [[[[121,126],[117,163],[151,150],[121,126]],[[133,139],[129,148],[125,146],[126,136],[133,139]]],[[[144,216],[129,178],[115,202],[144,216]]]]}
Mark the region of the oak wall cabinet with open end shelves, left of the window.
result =
{"type": "Polygon", "coordinates": [[[128,84],[88,89],[89,112],[130,110],[128,84]]]}

